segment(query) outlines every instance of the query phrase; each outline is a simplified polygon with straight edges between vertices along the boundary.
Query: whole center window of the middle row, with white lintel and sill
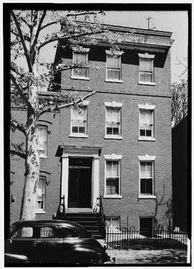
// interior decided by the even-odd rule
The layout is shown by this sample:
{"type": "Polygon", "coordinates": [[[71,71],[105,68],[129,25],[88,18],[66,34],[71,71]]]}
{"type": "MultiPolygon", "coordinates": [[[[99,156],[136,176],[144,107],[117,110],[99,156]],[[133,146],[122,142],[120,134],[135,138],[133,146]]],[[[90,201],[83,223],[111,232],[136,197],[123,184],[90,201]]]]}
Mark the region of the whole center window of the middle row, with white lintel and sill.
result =
{"type": "Polygon", "coordinates": [[[105,102],[106,135],[104,138],[122,139],[122,103],[105,102]]]}

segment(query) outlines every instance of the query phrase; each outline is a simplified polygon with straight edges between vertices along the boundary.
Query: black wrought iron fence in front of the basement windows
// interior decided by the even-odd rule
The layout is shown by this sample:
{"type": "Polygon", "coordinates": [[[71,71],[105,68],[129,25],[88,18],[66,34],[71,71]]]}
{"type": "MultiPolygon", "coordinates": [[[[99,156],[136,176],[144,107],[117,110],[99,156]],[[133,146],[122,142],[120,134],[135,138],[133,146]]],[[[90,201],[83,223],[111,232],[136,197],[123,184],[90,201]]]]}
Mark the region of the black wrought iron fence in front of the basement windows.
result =
{"type": "Polygon", "coordinates": [[[117,249],[164,249],[187,248],[187,232],[175,232],[173,228],[135,230],[106,226],[106,247],[117,249]]]}

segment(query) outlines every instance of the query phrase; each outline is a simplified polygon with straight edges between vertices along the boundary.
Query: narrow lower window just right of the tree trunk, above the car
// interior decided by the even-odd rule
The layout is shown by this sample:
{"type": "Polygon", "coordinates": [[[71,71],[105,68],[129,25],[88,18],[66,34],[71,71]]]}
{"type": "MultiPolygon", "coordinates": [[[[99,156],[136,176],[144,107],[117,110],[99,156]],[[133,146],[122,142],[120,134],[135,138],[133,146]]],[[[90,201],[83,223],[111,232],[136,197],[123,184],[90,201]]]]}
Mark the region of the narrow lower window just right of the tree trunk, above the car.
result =
{"type": "Polygon", "coordinates": [[[37,186],[37,213],[45,212],[45,195],[46,195],[46,177],[39,177],[37,186]]]}

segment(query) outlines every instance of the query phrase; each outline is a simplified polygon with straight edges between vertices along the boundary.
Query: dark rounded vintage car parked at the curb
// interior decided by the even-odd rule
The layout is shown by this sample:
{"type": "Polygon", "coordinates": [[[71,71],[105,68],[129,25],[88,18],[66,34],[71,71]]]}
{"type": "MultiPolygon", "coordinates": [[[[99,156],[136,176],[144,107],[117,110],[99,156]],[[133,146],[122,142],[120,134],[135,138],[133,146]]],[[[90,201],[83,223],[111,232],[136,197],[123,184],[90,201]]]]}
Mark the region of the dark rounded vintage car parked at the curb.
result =
{"type": "MultiPolygon", "coordinates": [[[[13,223],[5,252],[7,257],[23,255],[28,263],[39,264],[101,264],[109,260],[101,244],[84,227],[59,220],[13,223]]],[[[9,263],[9,259],[6,261],[9,263]]]]}

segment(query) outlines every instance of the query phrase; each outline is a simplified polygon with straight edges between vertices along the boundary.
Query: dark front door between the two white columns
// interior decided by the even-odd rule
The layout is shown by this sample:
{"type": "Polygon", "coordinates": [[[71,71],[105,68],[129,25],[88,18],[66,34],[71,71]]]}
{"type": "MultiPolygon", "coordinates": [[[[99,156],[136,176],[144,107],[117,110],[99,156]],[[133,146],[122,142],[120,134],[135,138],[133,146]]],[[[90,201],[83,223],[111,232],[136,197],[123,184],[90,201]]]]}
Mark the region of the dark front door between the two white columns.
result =
{"type": "Polygon", "coordinates": [[[91,208],[91,158],[70,158],[68,208],[91,208]]]}

